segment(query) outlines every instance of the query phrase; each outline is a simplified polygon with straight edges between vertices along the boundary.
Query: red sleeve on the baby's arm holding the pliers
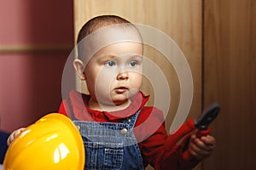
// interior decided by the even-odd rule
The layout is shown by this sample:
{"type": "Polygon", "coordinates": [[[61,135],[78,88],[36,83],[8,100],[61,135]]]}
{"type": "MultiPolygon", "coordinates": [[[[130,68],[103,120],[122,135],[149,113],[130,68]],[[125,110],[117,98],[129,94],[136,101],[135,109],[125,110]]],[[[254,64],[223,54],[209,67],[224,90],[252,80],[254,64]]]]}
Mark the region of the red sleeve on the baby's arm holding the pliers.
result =
{"type": "MultiPolygon", "coordinates": [[[[147,127],[143,127],[140,131],[147,132],[147,139],[139,143],[139,147],[143,156],[144,166],[149,163],[154,169],[176,169],[187,170],[195,167],[199,161],[183,160],[183,151],[187,149],[186,141],[189,137],[183,139],[181,144],[172,143],[172,136],[166,133],[166,126],[162,111],[155,108],[145,108],[138,117],[138,124],[142,124],[149,118],[147,127]],[[152,115],[153,114],[153,115],[152,115]],[[154,129],[153,129],[154,128],[154,129]],[[150,132],[154,133],[150,134],[150,132]]],[[[137,135],[137,134],[136,134],[137,135]]]]}

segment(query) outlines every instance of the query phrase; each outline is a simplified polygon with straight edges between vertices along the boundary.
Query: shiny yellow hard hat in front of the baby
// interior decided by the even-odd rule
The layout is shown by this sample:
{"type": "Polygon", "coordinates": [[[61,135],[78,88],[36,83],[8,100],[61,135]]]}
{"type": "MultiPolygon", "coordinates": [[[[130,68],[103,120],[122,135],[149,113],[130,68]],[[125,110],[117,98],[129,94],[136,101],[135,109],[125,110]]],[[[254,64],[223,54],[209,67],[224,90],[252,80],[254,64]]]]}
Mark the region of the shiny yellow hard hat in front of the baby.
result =
{"type": "Polygon", "coordinates": [[[84,169],[84,144],[73,122],[50,113],[13,141],[3,161],[3,170],[84,169]]]}

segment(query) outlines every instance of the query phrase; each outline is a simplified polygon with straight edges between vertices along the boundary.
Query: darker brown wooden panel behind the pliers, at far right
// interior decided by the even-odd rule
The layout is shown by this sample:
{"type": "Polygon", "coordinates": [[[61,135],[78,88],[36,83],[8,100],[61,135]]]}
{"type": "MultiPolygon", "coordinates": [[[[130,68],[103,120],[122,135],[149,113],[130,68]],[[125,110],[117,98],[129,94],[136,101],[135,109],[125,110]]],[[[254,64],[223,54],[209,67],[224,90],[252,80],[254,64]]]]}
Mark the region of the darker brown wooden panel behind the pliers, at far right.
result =
{"type": "Polygon", "coordinates": [[[256,2],[205,1],[204,11],[204,104],[222,105],[204,169],[256,169],[256,2]]]}

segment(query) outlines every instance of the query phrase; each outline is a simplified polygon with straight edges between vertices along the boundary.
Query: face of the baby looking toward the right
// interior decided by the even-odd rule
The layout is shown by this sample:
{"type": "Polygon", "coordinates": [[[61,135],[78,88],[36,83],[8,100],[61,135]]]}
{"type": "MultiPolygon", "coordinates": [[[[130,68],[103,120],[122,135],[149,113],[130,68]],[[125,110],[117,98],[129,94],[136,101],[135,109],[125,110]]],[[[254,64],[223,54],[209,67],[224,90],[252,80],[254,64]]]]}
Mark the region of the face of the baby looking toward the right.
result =
{"type": "Polygon", "coordinates": [[[99,105],[125,105],[142,83],[143,44],[118,42],[99,50],[84,69],[91,99],[99,105]]]}

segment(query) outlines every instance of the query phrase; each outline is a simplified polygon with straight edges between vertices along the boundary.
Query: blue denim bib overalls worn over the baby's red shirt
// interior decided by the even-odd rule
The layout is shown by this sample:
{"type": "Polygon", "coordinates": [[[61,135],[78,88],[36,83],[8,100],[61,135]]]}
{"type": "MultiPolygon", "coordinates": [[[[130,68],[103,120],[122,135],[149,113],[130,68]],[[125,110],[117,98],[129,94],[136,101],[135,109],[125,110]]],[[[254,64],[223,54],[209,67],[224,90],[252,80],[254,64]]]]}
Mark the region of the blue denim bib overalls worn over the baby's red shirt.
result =
{"type": "Polygon", "coordinates": [[[84,140],[84,169],[144,169],[132,132],[139,112],[120,123],[73,121],[84,140]]]}

